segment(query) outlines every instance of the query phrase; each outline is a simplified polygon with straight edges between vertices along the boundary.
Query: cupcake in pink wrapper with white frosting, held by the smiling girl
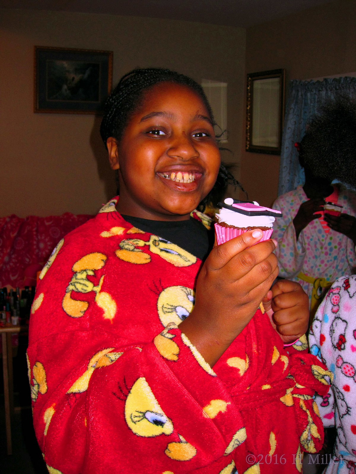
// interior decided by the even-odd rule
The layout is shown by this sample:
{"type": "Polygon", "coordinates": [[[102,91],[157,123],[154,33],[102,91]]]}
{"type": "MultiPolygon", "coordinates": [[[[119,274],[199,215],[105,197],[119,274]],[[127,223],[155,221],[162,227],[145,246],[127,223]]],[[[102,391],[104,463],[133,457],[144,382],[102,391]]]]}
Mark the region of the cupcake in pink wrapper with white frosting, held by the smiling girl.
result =
{"type": "MultiPolygon", "coordinates": [[[[262,238],[258,242],[268,240],[273,232],[273,222],[281,211],[260,206],[258,202],[238,201],[227,198],[216,215],[219,223],[215,223],[217,244],[223,244],[227,240],[238,237],[248,230],[261,229],[262,238]]],[[[258,243],[256,242],[256,243],[258,243]]]]}

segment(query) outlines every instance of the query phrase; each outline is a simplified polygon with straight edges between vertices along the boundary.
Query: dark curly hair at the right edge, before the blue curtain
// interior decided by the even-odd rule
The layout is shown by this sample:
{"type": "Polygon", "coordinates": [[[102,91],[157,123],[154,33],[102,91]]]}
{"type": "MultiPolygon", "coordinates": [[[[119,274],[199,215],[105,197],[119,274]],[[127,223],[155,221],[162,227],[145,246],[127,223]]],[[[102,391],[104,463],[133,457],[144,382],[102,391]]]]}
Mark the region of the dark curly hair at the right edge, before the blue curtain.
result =
{"type": "Polygon", "coordinates": [[[310,118],[300,158],[315,175],[356,185],[356,100],[338,94],[310,118]]]}

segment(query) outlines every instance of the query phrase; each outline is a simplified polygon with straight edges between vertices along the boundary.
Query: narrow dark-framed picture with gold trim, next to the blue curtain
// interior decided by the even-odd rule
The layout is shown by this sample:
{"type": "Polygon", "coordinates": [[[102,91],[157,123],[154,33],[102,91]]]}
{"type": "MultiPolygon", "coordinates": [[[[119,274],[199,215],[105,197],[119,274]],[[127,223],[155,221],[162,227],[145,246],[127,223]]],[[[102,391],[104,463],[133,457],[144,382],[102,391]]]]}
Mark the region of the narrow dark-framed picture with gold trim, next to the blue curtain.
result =
{"type": "Polygon", "coordinates": [[[285,73],[247,74],[246,151],[281,155],[285,73]]]}

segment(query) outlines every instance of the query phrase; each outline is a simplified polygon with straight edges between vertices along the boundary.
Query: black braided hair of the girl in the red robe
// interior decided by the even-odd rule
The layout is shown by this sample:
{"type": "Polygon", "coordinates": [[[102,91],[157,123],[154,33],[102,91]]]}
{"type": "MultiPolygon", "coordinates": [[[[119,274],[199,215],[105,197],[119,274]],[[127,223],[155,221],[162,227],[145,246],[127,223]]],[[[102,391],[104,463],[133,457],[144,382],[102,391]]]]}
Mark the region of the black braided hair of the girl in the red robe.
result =
{"type": "MultiPolygon", "coordinates": [[[[133,69],[130,73],[122,76],[118,85],[105,102],[104,116],[100,126],[100,134],[105,146],[106,140],[109,137],[114,137],[117,140],[121,139],[132,113],[141,105],[144,92],[154,85],[159,84],[159,82],[173,82],[187,86],[195,91],[203,101],[213,125],[216,125],[212,109],[204,90],[194,79],[184,74],[170,71],[169,69],[133,69]]],[[[117,176],[116,179],[118,179],[117,176]]],[[[235,188],[239,187],[244,191],[241,184],[228,171],[226,166],[221,164],[214,187],[200,203],[200,209],[204,210],[206,203],[212,202],[216,205],[217,201],[221,199],[224,194],[228,184],[232,184],[235,188]]]]}

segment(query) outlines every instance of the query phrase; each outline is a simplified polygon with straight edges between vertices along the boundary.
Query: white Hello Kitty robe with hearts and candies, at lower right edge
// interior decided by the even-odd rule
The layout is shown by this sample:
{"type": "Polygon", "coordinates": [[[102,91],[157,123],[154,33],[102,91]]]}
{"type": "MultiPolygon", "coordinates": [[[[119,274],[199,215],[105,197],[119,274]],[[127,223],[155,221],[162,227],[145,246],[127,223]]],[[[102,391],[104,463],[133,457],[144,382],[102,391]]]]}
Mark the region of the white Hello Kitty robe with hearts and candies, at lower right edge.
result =
{"type": "Polygon", "coordinates": [[[309,333],[310,352],[334,373],[325,397],[316,397],[325,427],[337,428],[327,474],[356,472],[356,275],[339,278],[320,304],[309,333]],[[334,464],[335,463],[335,464],[334,464]]]}

